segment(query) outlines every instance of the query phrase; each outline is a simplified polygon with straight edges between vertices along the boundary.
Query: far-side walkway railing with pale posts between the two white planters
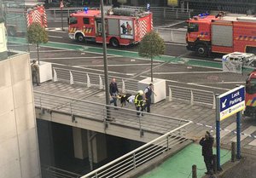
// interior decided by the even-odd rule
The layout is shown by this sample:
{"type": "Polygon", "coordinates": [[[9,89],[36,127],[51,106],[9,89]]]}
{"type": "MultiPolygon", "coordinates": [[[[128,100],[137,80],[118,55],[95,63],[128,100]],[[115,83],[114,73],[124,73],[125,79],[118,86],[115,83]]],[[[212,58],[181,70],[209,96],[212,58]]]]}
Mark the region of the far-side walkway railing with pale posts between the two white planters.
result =
{"type": "MultiPolygon", "coordinates": [[[[104,74],[94,72],[81,72],[78,70],[69,70],[65,68],[53,67],[54,81],[63,80],[69,81],[69,83],[86,84],[87,87],[96,87],[98,89],[104,89],[105,79],[104,74]]],[[[120,93],[137,92],[136,79],[120,78],[115,76],[109,76],[109,78],[116,78],[117,83],[122,83],[120,93]]],[[[120,86],[119,86],[120,87],[120,86]]]]}

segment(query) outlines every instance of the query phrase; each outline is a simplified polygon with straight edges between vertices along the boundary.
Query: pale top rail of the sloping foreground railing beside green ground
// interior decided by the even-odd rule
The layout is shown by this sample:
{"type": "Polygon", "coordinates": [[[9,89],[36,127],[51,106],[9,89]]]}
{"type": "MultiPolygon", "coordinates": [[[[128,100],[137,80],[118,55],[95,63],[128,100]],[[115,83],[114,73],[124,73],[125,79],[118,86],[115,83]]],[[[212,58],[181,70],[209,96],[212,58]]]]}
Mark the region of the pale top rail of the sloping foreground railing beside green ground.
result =
{"type": "MultiPolygon", "coordinates": [[[[111,162],[108,163],[108,164],[103,165],[102,167],[100,167],[100,168],[98,168],[98,169],[95,169],[95,170],[91,171],[89,174],[86,174],[86,175],[81,176],[80,178],[88,178],[88,177],[90,177],[91,175],[96,175],[96,177],[97,177],[98,172],[100,172],[101,170],[108,168],[110,165],[119,164],[119,161],[121,161],[121,160],[124,159],[124,158],[129,158],[130,156],[132,156],[132,158],[133,158],[134,155],[136,155],[136,153],[139,154],[139,152],[141,152],[141,151],[143,152],[143,149],[144,149],[144,148],[147,148],[148,146],[152,146],[152,145],[155,146],[155,145],[158,145],[159,142],[156,144],[157,141],[160,141],[161,139],[164,139],[164,140],[165,140],[165,139],[169,138],[169,136],[172,135],[172,133],[176,132],[176,131],[179,130],[179,129],[182,129],[183,127],[189,125],[190,123],[191,123],[191,122],[185,123],[185,124],[183,124],[182,126],[178,127],[177,129],[173,129],[172,131],[167,132],[165,135],[161,135],[160,137],[154,139],[153,141],[149,141],[148,143],[144,144],[143,146],[140,146],[140,147],[138,147],[137,149],[135,149],[135,150],[133,150],[133,151],[131,151],[131,152],[126,153],[125,155],[123,155],[123,156],[121,156],[121,157],[119,157],[119,158],[117,158],[117,159],[111,161],[111,162]]],[[[167,141],[166,141],[166,142],[167,142],[167,141]]],[[[168,148],[170,148],[170,147],[168,147],[168,148]]],[[[152,149],[151,149],[150,151],[152,151],[152,149]]],[[[159,152],[157,152],[157,154],[159,154],[159,152]]],[[[154,157],[153,157],[153,158],[154,158],[154,157]]],[[[152,158],[150,158],[150,159],[152,159],[152,158]]],[[[149,160],[150,160],[150,159],[149,159],[149,160]]],[[[133,162],[136,162],[136,159],[135,159],[135,158],[133,158],[133,162]]],[[[120,166],[119,166],[119,167],[120,167],[120,166]]],[[[135,166],[133,169],[136,169],[136,168],[137,168],[137,167],[135,166]]],[[[127,171],[125,171],[125,172],[127,172],[127,171]]],[[[125,172],[124,172],[123,174],[125,174],[125,172]]]]}

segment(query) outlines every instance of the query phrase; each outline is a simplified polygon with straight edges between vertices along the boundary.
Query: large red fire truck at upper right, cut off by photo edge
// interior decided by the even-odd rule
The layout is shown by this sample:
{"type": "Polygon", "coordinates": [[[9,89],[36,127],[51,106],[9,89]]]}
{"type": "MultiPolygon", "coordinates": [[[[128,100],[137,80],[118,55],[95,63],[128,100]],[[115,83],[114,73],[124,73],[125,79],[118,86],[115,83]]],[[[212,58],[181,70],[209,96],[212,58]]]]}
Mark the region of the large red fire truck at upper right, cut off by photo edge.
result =
{"type": "Polygon", "coordinates": [[[187,20],[187,49],[206,56],[211,52],[256,54],[256,17],[242,14],[200,14],[187,20]]]}

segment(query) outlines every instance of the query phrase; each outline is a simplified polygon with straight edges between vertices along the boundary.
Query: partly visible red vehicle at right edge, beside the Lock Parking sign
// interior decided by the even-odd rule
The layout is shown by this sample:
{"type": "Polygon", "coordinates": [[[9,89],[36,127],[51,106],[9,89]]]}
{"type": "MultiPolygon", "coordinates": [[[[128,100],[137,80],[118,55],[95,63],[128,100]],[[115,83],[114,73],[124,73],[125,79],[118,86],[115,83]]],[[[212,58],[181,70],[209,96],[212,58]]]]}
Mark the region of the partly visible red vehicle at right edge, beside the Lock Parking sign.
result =
{"type": "Polygon", "coordinates": [[[244,115],[256,118],[256,71],[249,75],[246,81],[246,109],[244,115]]]}

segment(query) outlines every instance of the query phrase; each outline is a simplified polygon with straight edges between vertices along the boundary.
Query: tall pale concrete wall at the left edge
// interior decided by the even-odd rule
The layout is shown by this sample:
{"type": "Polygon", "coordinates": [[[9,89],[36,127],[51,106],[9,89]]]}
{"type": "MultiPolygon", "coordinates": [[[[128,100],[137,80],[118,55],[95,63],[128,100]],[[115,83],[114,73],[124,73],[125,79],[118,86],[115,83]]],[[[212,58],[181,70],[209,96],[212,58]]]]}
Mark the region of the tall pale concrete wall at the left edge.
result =
{"type": "Polygon", "coordinates": [[[0,61],[0,76],[0,178],[41,177],[29,55],[0,61]]]}

